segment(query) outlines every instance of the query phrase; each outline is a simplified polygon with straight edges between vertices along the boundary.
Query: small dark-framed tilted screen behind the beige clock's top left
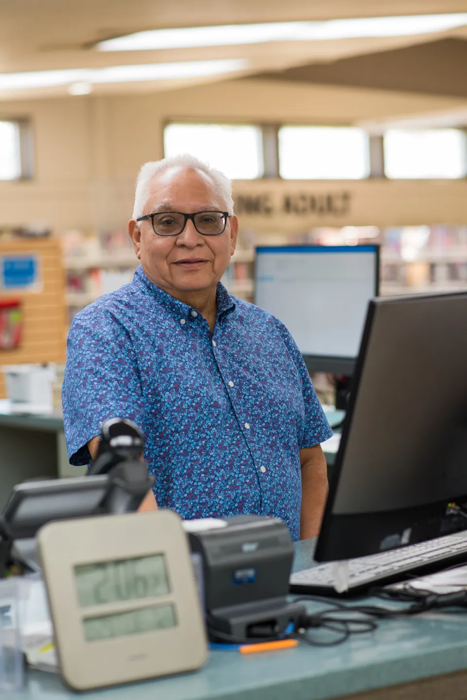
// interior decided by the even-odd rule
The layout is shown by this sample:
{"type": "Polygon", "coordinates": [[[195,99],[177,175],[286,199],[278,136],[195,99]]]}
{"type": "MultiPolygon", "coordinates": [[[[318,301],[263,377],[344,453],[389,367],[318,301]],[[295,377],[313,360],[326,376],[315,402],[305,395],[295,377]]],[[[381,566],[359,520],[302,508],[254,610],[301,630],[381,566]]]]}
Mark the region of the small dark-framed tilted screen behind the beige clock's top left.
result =
{"type": "Polygon", "coordinates": [[[51,520],[96,514],[107,488],[107,475],[17,484],[2,520],[13,539],[34,537],[51,520]]]}

